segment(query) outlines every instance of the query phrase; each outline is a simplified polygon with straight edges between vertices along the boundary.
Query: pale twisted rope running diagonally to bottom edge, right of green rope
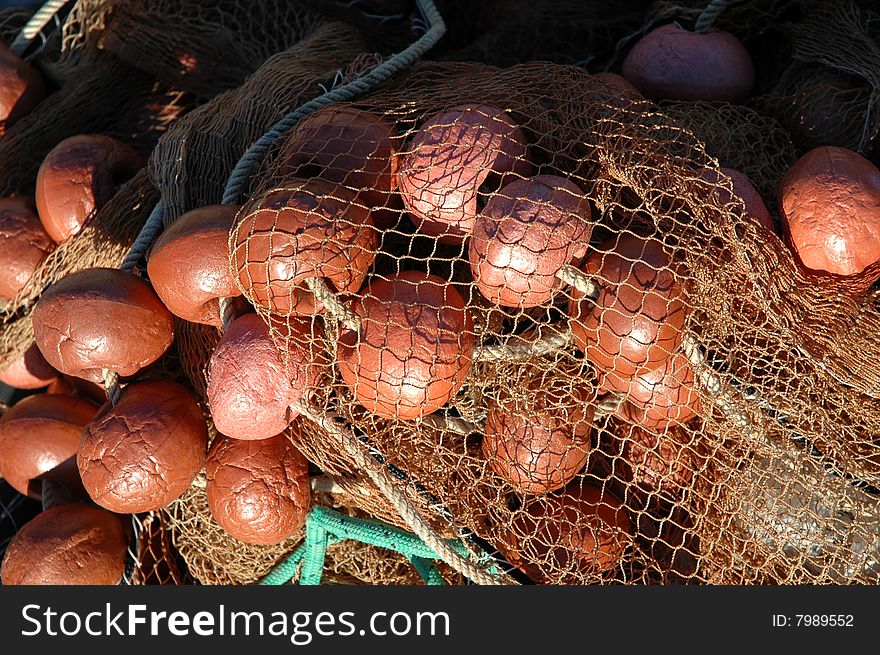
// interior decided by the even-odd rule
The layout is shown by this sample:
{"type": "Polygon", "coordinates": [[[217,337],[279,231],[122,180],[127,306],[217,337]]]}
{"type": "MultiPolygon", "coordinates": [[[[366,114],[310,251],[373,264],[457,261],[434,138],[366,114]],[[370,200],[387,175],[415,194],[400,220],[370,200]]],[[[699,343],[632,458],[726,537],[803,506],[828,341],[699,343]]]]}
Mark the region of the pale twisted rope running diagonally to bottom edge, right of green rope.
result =
{"type": "Polygon", "coordinates": [[[302,402],[294,403],[292,407],[300,414],[323,428],[324,431],[336,441],[337,445],[341,446],[345,452],[354,459],[355,464],[366,471],[370,480],[379,487],[410,529],[412,529],[412,531],[418,535],[422,541],[431,548],[433,553],[440,557],[440,559],[477,584],[510,584],[509,581],[504,578],[486,572],[481,567],[474,564],[474,562],[463,557],[447,541],[442,539],[434,528],[432,528],[425,519],[421,517],[403,492],[388,478],[384,469],[376,468],[375,463],[361,448],[361,444],[354,434],[343,429],[335,420],[333,420],[329,413],[324,413],[322,409],[306,405],[302,402]]]}

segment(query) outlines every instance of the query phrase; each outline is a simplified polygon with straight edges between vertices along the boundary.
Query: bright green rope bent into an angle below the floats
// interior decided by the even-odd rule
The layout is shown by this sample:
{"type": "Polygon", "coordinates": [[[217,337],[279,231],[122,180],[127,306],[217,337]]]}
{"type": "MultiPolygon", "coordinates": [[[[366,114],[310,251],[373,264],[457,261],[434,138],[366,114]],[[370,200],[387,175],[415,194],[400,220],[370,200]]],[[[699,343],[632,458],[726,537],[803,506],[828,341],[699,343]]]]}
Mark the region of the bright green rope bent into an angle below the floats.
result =
{"type": "MultiPolygon", "coordinates": [[[[260,585],[283,585],[299,572],[299,584],[321,583],[327,547],[340,541],[360,543],[393,550],[404,555],[427,585],[445,584],[434,560],[437,554],[416,535],[376,519],[354,518],[326,507],[313,507],[306,518],[305,540],[267,573],[260,585]]],[[[463,556],[467,550],[459,541],[449,545],[463,556]]]]}

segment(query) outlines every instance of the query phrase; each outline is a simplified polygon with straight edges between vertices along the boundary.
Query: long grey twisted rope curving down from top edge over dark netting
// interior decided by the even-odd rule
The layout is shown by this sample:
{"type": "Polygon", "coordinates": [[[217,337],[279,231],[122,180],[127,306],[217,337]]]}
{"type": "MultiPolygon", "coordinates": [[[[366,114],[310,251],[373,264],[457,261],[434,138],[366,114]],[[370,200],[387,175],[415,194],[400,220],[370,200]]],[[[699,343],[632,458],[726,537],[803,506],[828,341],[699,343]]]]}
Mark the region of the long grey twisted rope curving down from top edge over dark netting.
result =
{"type": "Polygon", "coordinates": [[[234,205],[238,203],[238,198],[253,167],[263,160],[269,147],[304,116],[334,102],[351,100],[372,90],[395,73],[412,66],[440,40],[440,37],[446,33],[446,24],[443,22],[440,12],[437,11],[437,7],[432,0],[416,0],[416,2],[425,18],[431,23],[431,29],[408,48],[391,56],[369,73],[310,100],[275,123],[268,132],[247,149],[235,168],[232,169],[226,183],[226,189],[223,191],[223,204],[234,205]]]}

